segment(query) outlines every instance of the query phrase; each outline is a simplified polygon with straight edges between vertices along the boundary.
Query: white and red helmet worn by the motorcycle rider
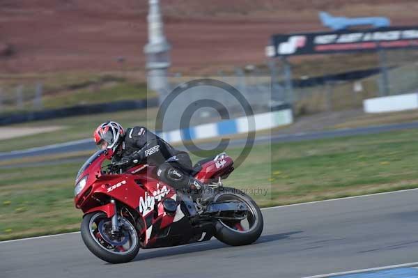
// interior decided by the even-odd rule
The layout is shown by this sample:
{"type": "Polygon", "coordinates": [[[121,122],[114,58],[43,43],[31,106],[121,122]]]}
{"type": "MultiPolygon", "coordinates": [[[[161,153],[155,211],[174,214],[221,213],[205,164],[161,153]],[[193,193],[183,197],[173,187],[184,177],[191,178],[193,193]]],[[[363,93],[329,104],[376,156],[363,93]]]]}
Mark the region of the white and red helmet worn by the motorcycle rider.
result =
{"type": "Polygon", "coordinates": [[[122,125],[109,121],[96,128],[93,138],[96,145],[100,146],[103,142],[106,142],[108,149],[116,150],[124,134],[125,130],[123,130],[122,125]]]}

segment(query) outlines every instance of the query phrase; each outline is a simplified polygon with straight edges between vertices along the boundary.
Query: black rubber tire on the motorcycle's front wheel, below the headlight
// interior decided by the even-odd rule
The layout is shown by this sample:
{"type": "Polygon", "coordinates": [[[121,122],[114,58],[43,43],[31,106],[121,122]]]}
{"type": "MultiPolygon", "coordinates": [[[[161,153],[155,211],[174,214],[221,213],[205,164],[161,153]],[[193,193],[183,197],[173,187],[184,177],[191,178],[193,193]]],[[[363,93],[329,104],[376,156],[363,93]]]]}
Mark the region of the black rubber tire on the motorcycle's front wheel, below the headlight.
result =
{"type": "MultiPolygon", "coordinates": [[[[95,256],[98,256],[98,258],[101,258],[103,261],[107,261],[109,263],[127,263],[128,261],[132,261],[132,259],[135,258],[135,256],[137,256],[140,247],[137,231],[135,229],[129,229],[128,233],[131,240],[130,242],[133,242],[133,245],[129,247],[129,249],[127,250],[128,252],[122,252],[123,254],[117,254],[116,252],[111,251],[110,248],[107,249],[107,247],[104,247],[104,245],[100,245],[98,237],[93,238],[93,234],[95,233],[97,235],[98,233],[97,231],[93,232],[91,230],[92,222],[98,221],[96,219],[106,220],[109,218],[107,218],[107,215],[102,212],[88,213],[84,216],[81,226],[81,233],[82,239],[86,247],[93,254],[95,254],[95,256]]],[[[132,224],[129,223],[128,225],[131,225],[130,228],[133,228],[132,224]]],[[[101,241],[104,242],[104,244],[108,244],[103,238],[101,238],[101,241]]]]}

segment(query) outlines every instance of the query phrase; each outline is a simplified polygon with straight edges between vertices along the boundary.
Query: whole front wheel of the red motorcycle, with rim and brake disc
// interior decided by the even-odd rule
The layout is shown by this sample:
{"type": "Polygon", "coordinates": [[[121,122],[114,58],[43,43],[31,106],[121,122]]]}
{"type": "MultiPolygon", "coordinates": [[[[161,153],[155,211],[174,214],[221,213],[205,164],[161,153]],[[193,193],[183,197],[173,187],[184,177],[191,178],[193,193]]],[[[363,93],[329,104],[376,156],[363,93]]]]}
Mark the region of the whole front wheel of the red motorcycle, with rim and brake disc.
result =
{"type": "Polygon", "coordinates": [[[88,213],[84,216],[81,233],[86,247],[98,258],[109,263],[127,263],[137,256],[139,239],[137,230],[120,217],[119,231],[111,233],[111,218],[105,213],[88,213]]]}

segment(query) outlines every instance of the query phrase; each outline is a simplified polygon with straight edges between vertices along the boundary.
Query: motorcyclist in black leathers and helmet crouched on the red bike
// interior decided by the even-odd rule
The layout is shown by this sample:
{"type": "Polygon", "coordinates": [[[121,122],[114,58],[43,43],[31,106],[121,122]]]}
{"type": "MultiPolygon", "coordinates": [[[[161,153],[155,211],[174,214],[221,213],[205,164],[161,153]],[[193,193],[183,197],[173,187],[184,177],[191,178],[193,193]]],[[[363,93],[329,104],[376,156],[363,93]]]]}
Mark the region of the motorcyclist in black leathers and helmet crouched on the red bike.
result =
{"type": "Polygon", "coordinates": [[[156,175],[162,182],[183,190],[202,205],[212,198],[208,185],[196,180],[189,155],[176,150],[147,128],[123,127],[114,121],[102,123],[93,133],[95,144],[102,150],[112,149],[114,167],[127,169],[134,164],[156,165],[156,175]]]}

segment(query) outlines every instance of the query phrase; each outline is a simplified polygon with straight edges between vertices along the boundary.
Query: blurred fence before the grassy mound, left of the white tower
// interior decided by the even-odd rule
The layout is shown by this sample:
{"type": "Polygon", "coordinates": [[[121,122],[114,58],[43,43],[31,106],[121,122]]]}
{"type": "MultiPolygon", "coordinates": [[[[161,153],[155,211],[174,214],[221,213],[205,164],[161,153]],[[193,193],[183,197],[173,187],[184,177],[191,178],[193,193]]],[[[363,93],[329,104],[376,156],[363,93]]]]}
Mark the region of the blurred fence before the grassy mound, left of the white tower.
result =
{"type": "Polygon", "coordinates": [[[118,73],[56,74],[40,80],[28,77],[22,82],[4,77],[0,80],[0,114],[144,100],[148,95],[144,81],[118,73]]]}

